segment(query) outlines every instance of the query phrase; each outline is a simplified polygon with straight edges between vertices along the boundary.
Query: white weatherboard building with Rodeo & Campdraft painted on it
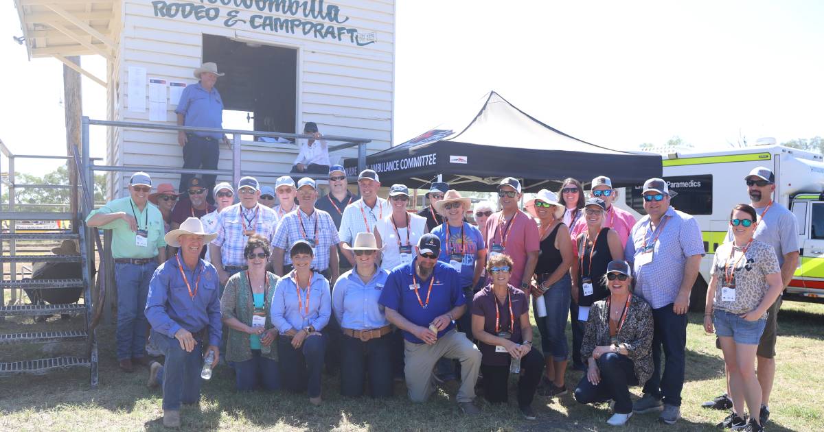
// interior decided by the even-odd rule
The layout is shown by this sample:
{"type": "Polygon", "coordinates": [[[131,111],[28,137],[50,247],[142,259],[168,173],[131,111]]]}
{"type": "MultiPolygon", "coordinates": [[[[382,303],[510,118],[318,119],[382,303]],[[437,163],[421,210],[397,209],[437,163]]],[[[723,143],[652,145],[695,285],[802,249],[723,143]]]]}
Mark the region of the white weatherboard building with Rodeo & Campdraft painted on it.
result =
{"type": "MultiPolygon", "coordinates": [[[[216,86],[224,128],[301,133],[311,121],[325,135],[371,139],[369,153],[390,146],[394,0],[14,1],[30,57],[67,64],[73,55],[106,58],[106,77],[79,72],[106,87],[107,119],[176,124],[180,91],[197,82],[194,68],[214,62],[226,73],[216,86]],[[227,125],[230,119],[235,123],[227,125]]],[[[176,137],[173,131],[110,128],[105,163],[180,167],[176,137]]],[[[335,163],[356,153],[351,148],[330,156],[335,163]]],[[[296,156],[292,143],[249,141],[241,164],[283,172],[296,156]]],[[[231,157],[221,146],[218,169],[231,169],[231,157]]],[[[175,186],[179,179],[153,177],[155,184],[175,186]]],[[[128,174],[114,175],[110,190],[122,191],[124,179],[128,174]]]]}

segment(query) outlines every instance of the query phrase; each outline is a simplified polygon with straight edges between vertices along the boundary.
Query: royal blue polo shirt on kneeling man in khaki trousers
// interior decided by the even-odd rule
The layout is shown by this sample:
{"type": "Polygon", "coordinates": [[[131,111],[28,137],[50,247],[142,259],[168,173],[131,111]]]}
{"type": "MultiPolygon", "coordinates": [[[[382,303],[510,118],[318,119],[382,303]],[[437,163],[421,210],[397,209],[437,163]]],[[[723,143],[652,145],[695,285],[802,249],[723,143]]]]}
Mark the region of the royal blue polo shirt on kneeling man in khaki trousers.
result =
{"type": "MultiPolygon", "coordinates": [[[[461,280],[458,277],[458,272],[449,264],[438,261],[435,263],[432,276],[429,276],[428,279],[422,281],[418,275],[415,275],[415,281],[418,282],[420,303],[426,304],[429,283],[432,283],[432,294],[429,295],[428,306],[422,308],[418,296],[415,295],[412,288],[412,275],[417,260],[418,258],[415,258],[405,266],[395,267],[389,273],[389,277],[386,278],[386,285],[383,286],[383,292],[377,302],[386,308],[395,309],[415,325],[429,327],[429,323],[432,323],[433,319],[446,314],[456,306],[465,304],[466,300],[464,300],[463,290],[461,290],[461,280]]],[[[438,337],[442,337],[453,327],[455,327],[455,323],[449,323],[446,328],[438,332],[438,337]]],[[[404,331],[404,338],[412,343],[424,343],[410,332],[404,331]]]]}

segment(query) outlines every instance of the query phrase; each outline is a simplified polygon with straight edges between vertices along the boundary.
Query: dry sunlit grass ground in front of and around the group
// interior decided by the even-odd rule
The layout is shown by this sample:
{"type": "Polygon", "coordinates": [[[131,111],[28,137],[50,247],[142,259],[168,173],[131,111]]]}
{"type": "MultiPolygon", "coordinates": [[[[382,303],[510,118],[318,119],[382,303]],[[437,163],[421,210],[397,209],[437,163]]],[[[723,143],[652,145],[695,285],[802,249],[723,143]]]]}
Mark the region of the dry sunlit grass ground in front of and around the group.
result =
{"type": "MultiPolygon", "coordinates": [[[[723,361],[706,335],[699,314],[691,314],[687,329],[686,383],[683,419],[677,425],[658,424],[655,415],[634,416],[625,430],[709,430],[725,413],[699,407],[723,391],[723,361]]],[[[824,430],[824,377],[817,365],[824,351],[824,305],[787,302],[781,310],[778,372],[768,430],[824,430]]],[[[72,325],[81,324],[74,318],[72,325]]],[[[60,326],[59,318],[41,324],[60,326]]],[[[14,321],[0,324],[2,332],[26,327],[14,321]]],[[[24,376],[0,380],[0,430],[162,430],[161,392],[145,387],[147,371],[122,374],[114,357],[114,328],[101,327],[100,388],[91,390],[87,371],[24,376]]],[[[58,344],[3,346],[0,361],[59,355],[68,346],[58,344]],[[34,351],[33,351],[34,350],[34,351]]],[[[71,352],[71,351],[68,351],[71,352]]],[[[570,390],[581,373],[567,373],[570,390]]],[[[344,398],[338,379],[325,378],[324,403],[308,405],[305,395],[233,391],[232,374],[215,370],[203,386],[199,407],[182,411],[184,430],[608,430],[605,404],[583,406],[571,394],[550,400],[536,396],[538,420],[523,420],[514,394],[506,406],[480,401],[483,414],[467,418],[458,411],[456,387],[439,391],[429,402],[414,404],[405,397],[402,383],[396,396],[386,400],[344,398]]],[[[639,388],[632,389],[637,395],[639,388]]],[[[480,399],[480,398],[479,398],[480,399]]]]}

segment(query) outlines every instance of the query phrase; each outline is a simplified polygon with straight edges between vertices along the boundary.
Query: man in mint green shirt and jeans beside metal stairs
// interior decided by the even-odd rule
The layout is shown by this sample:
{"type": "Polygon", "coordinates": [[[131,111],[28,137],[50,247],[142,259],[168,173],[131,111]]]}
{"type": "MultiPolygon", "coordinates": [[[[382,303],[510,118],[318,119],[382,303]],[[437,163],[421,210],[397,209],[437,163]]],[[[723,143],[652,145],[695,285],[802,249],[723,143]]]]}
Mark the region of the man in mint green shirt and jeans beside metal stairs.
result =
{"type": "Polygon", "coordinates": [[[148,205],[152,179],[138,172],[129,180],[129,197],[107,202],[91,211],[86,225],[112,230],[111,256],[115,259],[117,286],[117,360],[124,372],[133,372],[133,362],[148,365],[148,330],[143,307],[149,281],[158,262],[166,261],[163,216],[148,205]]]}

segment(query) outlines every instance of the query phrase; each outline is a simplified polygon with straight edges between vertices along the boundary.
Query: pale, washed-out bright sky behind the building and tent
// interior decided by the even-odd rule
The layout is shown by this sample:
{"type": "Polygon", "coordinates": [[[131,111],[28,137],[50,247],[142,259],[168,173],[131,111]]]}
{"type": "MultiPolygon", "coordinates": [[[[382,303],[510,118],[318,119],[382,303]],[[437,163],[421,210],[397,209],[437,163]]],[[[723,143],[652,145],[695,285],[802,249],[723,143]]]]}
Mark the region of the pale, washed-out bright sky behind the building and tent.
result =
{"type": "MultiPolygon", "coordinates": [[[[396,142],[478,109],[489,90],[616,148],[824,135],[824,2],[399,0],[396,21],[396,142]]],[[[12,2],[0,29],[0,139],[62,153],[62,66],[28,61],[12,2]]],[[[83,62],[104,75],[100,58],[83,62]]],[[[83,89],[84,114],[104,118],[104,89],[85,78],[83,89]]]]}

